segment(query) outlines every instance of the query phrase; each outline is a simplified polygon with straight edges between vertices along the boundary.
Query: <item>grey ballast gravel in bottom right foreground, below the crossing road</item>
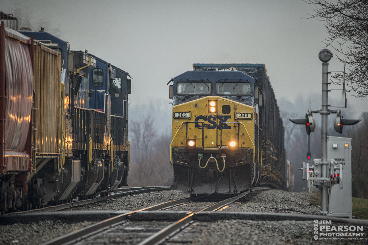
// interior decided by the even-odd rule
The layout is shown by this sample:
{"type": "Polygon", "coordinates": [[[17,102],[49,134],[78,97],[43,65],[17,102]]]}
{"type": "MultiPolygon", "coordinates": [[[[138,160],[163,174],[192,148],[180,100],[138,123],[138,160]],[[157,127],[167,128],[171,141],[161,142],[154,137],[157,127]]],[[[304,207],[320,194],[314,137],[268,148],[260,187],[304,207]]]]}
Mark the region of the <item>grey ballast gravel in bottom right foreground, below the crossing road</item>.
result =
{"type": "MultiPolygon", "coordinates": [[[[344,224],[333,224],[335,226],[344,224]]],[[[346,224],[345,224],[346,225],[346,224]]],[[[332,236],[319,236],[315,239],[314,222],[311,221],[251,221],[221,220],[216,222],[195,222],[171,237],[162,245],[201,244],[201,245],[314,245],[314,244],[367,244],[368,228],[364,235],[355,238],[329,239],[332,236]],[[183,235],[185,233],[185,236],[183,235]],[[363,239],[361,239],[363,238],[363,239]]]]}

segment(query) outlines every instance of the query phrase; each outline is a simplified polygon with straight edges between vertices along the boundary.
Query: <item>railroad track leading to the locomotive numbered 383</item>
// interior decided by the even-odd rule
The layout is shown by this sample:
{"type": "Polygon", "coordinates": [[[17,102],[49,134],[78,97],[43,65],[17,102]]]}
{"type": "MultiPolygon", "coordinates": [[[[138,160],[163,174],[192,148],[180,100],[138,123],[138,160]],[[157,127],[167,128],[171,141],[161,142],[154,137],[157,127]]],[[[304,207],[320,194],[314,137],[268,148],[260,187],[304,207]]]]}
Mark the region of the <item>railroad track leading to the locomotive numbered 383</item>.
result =
{"type": "Polygon", "coordinates": [[[106,241],[118,243],[116,239],[118,239],[119,241],[121,240],[139,245],[156,244],[165,237],[170,237],[170,235],[174,234],[176,231],[185,226],[188,226],[190,223],[192,223],[195,215],[198,215],[199,213],[213,212],[221,209],[222,207],[230,205],[230,203],[243,198],[249,193],[250,191],[241,193],[236,197],[222,200],[200,210],[199,212],[160,211],[152,213],[153,211],[164,210],[173,206],[183,205],[188,202],[200,200],[201,198],[204,198],[203,196],[198,198],[178,199],[158,205],[153,205],[151,207],[119,214],[116,217],[100,221],[96,224],[79,229],[70,234],[55,238],[49,242],[43,243],[42,245],[92,243],[106,244],[106,241]],[[171,220],[173,219],[173,217],[178,217],[178,219],[172,222],[171,220]],[[142,221],[147,219],[151,221],[142,221]],[[155,220],[154,225],[152,225],[152,219],[155,220]]]}

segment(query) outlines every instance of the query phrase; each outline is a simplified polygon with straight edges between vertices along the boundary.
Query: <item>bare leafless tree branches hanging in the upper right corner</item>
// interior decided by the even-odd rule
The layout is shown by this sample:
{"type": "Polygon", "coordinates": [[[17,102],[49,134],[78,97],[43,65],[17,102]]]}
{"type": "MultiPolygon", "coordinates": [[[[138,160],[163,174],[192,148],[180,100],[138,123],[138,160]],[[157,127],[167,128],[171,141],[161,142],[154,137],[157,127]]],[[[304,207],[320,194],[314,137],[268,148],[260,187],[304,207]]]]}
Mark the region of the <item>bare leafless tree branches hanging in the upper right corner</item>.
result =
{"type": "Polygon", "coordinates": [[[357,97],[368,97],[368,0],[303,0],[315,4],[311,18],[326,22],[329,38],[326,46],[331,46],[339,54],[337,58],[346,60],[347,71],[336,73],[337,83],[345,79],[357,97]]]}

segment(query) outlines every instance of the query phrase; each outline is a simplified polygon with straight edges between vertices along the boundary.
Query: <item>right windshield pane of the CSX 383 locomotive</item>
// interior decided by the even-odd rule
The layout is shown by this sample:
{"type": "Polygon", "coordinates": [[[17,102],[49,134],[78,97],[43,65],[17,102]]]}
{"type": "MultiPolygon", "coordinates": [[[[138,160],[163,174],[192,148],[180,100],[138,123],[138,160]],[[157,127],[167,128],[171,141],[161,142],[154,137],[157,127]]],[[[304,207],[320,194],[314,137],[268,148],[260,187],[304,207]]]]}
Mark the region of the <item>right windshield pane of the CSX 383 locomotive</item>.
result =
{"type": "Polygon", "coordinates": [[[249,82],[217,82],[217,95],[252,95],[252,85],[249,82]]]}

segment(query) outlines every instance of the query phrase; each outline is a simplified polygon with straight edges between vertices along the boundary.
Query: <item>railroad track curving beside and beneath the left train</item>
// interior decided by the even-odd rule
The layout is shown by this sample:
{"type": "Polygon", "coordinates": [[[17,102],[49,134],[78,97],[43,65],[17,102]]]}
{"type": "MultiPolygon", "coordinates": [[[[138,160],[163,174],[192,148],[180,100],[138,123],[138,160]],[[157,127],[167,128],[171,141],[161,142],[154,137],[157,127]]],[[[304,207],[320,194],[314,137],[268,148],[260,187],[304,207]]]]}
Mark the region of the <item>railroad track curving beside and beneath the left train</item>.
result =
{"type": "Polygon", "coordinates": [[[47,206],[47,207],[31,209],[31,210],[26,210],[26,211],[6,213],[6,214],[3,214],[2,216],[10,216],[13,214],[32,213],[32,212],[51,212],[51,211],[67,209],[70,207],[82,206],[82,205],[95,203],[95,202],[102,202],[102,201],[106,201],[106,200],[113,199],[113,198],[120,198],[123,196],[130,196],[130,195],[135,195],[135,194],[145,193],[145,192],[165,191],[165,190],[171,190],[171,189],[172,189],[171,187],[120,188],[117,191],[114,191],[110,195],[107,195],[107,196],[97,196],[96,198],[85,199],[85,200],[74,200],[73,202],[63,203],[59,205],[47,206]]]}

